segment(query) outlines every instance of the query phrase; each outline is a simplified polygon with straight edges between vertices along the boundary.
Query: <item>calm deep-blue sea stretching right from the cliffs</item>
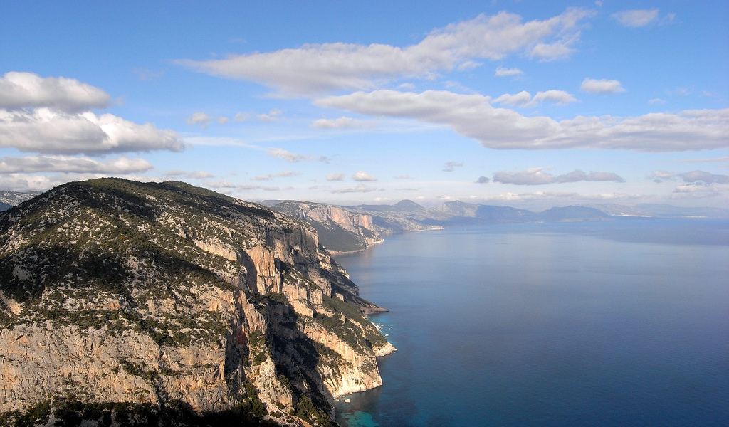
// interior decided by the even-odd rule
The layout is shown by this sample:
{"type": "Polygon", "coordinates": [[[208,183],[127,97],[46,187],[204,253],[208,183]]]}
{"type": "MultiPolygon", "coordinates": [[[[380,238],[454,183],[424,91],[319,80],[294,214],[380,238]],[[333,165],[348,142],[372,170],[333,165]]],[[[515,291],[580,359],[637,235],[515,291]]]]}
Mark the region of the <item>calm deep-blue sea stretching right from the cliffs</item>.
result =
{"type": "Polygon", "coordinates": [[[451,228],[338,262],[398,349],[343,425],[729,426],[729,221],[451,228]]]}

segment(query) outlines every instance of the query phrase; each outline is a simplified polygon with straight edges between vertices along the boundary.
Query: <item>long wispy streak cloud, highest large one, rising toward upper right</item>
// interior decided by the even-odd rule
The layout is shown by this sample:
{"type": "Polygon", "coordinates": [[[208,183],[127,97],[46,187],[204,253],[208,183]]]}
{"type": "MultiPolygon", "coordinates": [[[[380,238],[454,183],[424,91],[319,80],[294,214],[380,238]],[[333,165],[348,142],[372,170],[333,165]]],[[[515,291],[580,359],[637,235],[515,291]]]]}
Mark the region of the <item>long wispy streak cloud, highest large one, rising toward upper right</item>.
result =
{"type": "Polygon", "coordinates": [[[215,76],[250,80],[279,92],[311,95],[332,90],[372,89],[402,78],[478,65],[521,53],[538,60],[566,58],[580,39],[582,21],[595,12],[566,9],[547,20],[523,22],[508,12],[434,29],[418,44],[305,44],[295,49],[230,55],[176,63],[215,76]]]}

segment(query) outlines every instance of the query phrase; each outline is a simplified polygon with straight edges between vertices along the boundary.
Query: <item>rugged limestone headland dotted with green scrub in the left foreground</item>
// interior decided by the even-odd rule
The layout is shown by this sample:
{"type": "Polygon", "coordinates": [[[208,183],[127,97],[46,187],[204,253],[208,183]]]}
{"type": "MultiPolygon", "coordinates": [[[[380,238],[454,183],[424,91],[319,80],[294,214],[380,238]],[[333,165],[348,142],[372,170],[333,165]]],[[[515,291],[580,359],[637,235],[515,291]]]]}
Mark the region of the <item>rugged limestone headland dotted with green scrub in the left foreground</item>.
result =
{"type": "Polygon", "coordinates": [[[1,213],[0,291],[0,412],[260,399],[299,424],[381,385],[392,350],[313,227],[181,183],[71,183],[1,213]]]}

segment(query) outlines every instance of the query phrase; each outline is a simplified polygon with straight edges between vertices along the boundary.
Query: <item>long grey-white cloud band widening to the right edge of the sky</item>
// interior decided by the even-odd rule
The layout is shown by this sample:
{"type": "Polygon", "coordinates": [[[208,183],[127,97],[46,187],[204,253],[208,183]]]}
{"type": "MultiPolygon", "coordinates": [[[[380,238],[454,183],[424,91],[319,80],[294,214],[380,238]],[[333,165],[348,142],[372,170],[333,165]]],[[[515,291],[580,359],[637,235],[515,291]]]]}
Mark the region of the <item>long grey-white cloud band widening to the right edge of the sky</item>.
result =
{"type": "Polygon", "coordinates": [[[446,125],[493,149],[625,149],[643,152],[717,149],[729,146],[729,109],[651,113],[638,117],[553,120],[525,117],[491,106],[476,94],[428,90],[356,92],[314,101],[373,116],[405,117],[446,125]]]}

